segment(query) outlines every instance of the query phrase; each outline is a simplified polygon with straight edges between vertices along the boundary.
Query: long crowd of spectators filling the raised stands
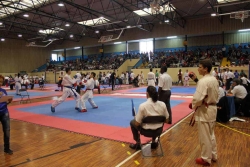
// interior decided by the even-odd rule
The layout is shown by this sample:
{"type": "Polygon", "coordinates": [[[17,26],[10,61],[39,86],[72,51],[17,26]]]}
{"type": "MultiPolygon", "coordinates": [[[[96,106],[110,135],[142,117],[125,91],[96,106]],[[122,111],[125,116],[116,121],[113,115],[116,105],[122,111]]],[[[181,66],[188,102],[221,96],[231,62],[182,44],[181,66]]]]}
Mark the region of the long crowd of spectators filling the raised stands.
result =
{"type": "MultiPolygon", "coordinates": [[[[228,66],[240,66],[249,64],[250,54],[246,51],[249,45],[239,44],[225,47],[195,48],[187,52],[182,50],[157,51],[155,53],[129,53],[111,54],[109,56],[89,55],[85,59],[63,61],[59,64],[47,62],[46,70],[60,71],[67,67],[72,70],[110,70],[119,68],[127,59],[140,58],[142,65],[139,68],[160,68],[162,65],[168,67],[197,67],[201,59],[210,58],[213,65],[220,65],[223,57],[227,57],[228,66]],[[245,50],[245,51],[244,51],[245,50]]],[[[136,67],[138,68],[138,67],[136,67]]]]}

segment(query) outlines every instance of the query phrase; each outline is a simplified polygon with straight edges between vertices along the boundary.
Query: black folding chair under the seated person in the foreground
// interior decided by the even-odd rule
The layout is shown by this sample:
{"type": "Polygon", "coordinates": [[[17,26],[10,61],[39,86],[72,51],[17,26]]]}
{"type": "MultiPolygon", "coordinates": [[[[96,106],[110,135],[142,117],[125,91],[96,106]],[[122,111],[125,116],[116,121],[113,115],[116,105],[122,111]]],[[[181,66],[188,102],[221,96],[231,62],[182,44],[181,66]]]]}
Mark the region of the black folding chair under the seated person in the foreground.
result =
{"type": "Polygon", "coordinates": [[[139,140],[140,140],[140,135],[143,135],[145,137],[150,137],[150,138],[155,138],[157,141],[158,147],[160,147],[160,153],[158,154],[153,154],[151,151],[152,155],[146,155],[144,149],[146,148],[147,145],[151,145],[150,143],[142,144],[140,141],[140,146],[141,146],[141,151],[142,151],[142,156],[143,157],[157,157],[157,156],[163,156],[163,150],[162,150],[162,145],[160,141],[160,136],[163,132],[163,126],[164,123],[166,122],[166,117],[165,116],[147,116],[142,119],[141,123],[141,128],[139,129],[139,140]],[[142,126],[143,124],[162,124],[162,126],[158,129],[152,130],[152,129],[143,129],[142,126]],[[143,148],[143,145],[146,145],[145,148],[143,148]]]}

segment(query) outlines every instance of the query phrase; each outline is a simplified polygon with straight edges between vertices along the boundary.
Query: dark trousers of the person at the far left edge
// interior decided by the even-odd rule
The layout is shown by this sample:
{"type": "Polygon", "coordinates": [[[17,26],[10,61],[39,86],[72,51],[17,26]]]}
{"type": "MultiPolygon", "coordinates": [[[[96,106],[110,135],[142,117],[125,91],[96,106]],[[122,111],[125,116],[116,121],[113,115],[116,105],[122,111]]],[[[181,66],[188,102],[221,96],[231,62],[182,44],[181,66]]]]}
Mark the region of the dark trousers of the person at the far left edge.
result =
{"type": "Polygon", "coordinates": [[[9,113],[0,114],[0,121],[3,128],[4,150],[10,149],[10,116],[9,113]]]}

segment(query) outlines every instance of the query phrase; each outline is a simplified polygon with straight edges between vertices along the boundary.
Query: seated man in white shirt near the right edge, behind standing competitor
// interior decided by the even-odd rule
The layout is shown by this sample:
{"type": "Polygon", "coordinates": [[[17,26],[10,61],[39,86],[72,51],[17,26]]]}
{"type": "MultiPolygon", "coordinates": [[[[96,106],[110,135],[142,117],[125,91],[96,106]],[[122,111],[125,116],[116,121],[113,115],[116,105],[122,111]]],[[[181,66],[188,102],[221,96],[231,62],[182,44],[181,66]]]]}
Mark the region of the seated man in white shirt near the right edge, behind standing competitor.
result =
{"type": "Polygon", "coordinates": [[[239,105],[242,103],[243,99],[247,95],[247,90],[244,86],[240,85],[240,79],[234,79],[232,86],[228,90],[228,95],[234,96],[235,110],[239,109],[239,105]]]}

